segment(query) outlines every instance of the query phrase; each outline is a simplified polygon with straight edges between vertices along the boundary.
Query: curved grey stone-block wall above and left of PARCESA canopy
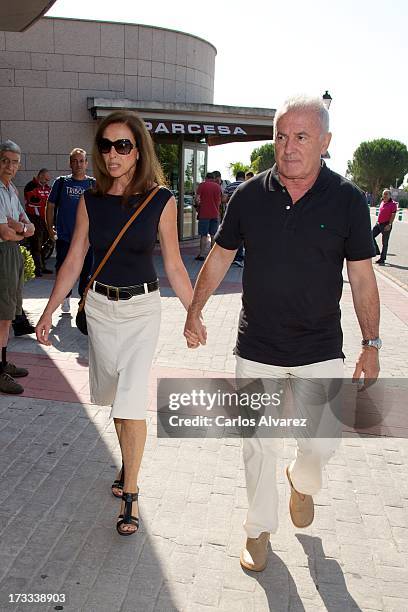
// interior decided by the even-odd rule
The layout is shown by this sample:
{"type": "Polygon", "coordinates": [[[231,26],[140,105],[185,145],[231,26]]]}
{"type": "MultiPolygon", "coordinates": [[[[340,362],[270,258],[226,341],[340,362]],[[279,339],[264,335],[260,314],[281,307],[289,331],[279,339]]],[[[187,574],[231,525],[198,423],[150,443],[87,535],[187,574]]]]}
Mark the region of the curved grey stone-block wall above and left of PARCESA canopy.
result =
{"type": "Polygon", "coordinates": [[[43,18],[0,31],[0,139],[22,148],[17,185],[42,166],[66,173],[72,148],[90,150],[89,96],[212,103],[215,54],[202,39],[151,26],[43,18]]]}

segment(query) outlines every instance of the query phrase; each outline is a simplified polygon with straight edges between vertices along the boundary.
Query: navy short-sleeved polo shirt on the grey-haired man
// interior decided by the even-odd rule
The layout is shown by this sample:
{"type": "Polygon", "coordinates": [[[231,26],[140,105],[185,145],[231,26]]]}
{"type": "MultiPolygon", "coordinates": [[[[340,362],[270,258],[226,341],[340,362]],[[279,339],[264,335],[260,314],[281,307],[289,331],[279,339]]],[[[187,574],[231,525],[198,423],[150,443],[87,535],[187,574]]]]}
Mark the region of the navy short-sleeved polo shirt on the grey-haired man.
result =
{"type": "Polygon", "coordinates": [[[343,262],[375,255],[355,185],[323,164],[293,204],[274,167],[238,187],[215,241],[230,250],[245,244],[237,355],[279,366],[343,357],[343,262]]]}

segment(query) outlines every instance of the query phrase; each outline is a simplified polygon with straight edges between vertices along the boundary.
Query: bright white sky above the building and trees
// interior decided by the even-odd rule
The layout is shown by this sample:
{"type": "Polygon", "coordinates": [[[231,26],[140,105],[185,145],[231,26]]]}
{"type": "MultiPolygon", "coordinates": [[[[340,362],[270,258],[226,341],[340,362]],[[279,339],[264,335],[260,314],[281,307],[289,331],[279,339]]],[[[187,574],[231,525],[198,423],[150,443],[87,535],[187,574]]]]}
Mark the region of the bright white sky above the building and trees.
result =
{"type": "MultiPolygon", "coordinates": [[[[344,174],[364,140],[408,145],[406,0],[57,0],[47,15],[140,23],[195,34],[217,48],[214,103],[278,108],[293,94],[330,107],[329,166],[344,174]]],[[[228,178],[262,143],[209,148],[208,168],[228,178]]]]}

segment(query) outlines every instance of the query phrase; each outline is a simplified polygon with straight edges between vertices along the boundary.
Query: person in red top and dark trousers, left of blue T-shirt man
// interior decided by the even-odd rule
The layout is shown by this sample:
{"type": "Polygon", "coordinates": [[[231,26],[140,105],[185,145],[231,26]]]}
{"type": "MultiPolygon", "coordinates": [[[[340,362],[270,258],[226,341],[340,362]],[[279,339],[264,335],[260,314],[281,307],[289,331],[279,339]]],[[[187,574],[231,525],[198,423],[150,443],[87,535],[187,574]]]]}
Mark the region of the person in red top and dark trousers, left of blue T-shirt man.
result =
{"type": "Polygon", "coordinates": [[[26,213],[35,227],[34,235],[30,238],[30,251],[34,259],[36,276],[52,274],[52,271],[45,267],[42,253],[44,243],[48,239],[45,208],[51,192],[51,187],[49,186],[50,179],[48,170],[41,168],[37,176],[24,187],[26,213]]]}

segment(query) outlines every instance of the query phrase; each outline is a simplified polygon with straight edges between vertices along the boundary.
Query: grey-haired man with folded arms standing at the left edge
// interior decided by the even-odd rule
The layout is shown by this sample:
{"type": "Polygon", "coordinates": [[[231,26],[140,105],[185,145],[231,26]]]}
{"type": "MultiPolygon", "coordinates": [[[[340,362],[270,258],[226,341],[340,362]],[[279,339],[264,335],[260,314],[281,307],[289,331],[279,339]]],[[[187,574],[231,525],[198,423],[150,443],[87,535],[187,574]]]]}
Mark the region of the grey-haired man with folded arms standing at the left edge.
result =
{"type": "Polygon", "coordinates": [[[24,391],[14,378],[28,375],[25,368],[7,361],[10,325],[16,315],[21,315],[24,263],[19,242],[34,234],[34,225],[29,222],[12,182],[20,159],[21,150],[15,142],[6,140],[0,144],[0,391],[13,394],[24,391]]]}

